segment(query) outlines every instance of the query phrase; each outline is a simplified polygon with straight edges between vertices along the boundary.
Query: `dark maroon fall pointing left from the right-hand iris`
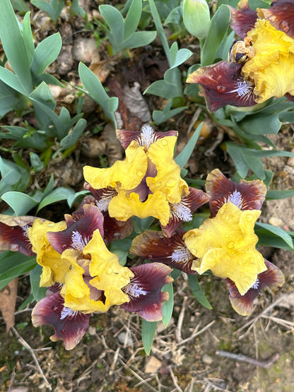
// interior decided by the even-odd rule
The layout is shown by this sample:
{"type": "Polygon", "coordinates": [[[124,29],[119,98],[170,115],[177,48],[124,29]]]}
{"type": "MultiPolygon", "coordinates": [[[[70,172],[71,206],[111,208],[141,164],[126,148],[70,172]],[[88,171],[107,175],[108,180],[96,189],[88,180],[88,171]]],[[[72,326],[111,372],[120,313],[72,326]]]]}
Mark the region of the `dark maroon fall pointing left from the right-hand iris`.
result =
{"type": "Polygon", "coordinates": [[[184,232],[177,232],[173,237],[165,237],[162,232],[146,230],[133,239],[130,253],[195,275],[192,270],[195,257],[186,247],[183,235],[184,232]]]}

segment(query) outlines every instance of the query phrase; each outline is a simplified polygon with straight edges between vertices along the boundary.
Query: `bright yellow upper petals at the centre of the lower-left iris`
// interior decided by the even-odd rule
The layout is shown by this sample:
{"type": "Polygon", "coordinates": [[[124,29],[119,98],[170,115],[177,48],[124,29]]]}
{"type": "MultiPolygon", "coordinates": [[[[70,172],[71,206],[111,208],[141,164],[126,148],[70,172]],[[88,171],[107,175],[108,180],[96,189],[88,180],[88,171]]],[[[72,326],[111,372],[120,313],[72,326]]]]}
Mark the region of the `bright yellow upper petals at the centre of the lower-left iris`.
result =
{"type": "Polygon", "coordinates": [[[99,230],[95,230],[86,247],[84,254],[90,253],[91,260],[81,259],[81,254],[73,249],[66,249],[62,254],[62,259],[70,261],[70,268],[66,272],[64,286],[61,289],[64,306],[92,313],[104,312],[112,305],[129,302],[129,297],[121,289],[129,283],[129,278],[134,274],[129,268],[120,266],[117,256],[108,251],[103,240],[100,242],[99,230]],[[93,279],[87,275],[90,270],[95,274],[93,279]],[[104,291],[105,301],[100,300],[101,290],[104,291]]]}

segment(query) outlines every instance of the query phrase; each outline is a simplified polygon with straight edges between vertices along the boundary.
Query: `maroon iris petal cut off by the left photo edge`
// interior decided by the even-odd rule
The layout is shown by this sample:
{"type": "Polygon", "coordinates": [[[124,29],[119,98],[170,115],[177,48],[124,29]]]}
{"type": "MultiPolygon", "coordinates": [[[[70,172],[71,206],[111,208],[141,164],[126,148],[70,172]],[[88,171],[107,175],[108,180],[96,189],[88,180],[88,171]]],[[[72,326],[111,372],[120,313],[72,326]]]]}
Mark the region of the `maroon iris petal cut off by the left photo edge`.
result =
{"type": "Polygon", "coordinates": [[[35,254],[28,239],[28,227],[34,216],[8,216],[0,214],[0,251],[20,251],[27,256],[35,254]]]}

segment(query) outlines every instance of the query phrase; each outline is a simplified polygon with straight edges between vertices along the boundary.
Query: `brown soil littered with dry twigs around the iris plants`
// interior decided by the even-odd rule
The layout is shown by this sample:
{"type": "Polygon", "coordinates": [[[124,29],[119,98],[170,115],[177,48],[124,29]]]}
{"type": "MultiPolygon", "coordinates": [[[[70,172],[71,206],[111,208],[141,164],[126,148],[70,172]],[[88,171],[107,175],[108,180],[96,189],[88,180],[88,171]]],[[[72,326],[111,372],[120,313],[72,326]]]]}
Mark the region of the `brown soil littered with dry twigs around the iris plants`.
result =
{"type": "MultiPolygon", "coordinates": [[[[93,20],[94,10],[98,10],[98,4],[101,2],[83,0],[82,3],[90,20],[93,20]]],[[[110,3],[113,4],[114,1],[110,3]]],[[[58,78],[78,85],[78,57],[81,57],[81,54],[72,57],[72,53],[76,53],[75,42],[81,38],[86,41],[93,39],[93,31],[85,30],[83,18],[80,17],[69,20],[61,18],[57,26],[49,23],[46,29],[37,29],[36,20],[46,16],[36,8],[31,8],[37,39],[42,40],[48,34],[59,30],[66,42],[61,57],[52,65],[51,72],[58,78]]],[[[189,39],[181,41],[181,44],[183,47],[189,47],[189,39]]],[[[124,86],[133,88],[134,82],[137,81],[143,92],[153,80],[163,78],[167,65],[160,44],[153,44],[146,49],[134,49],[130,58],[114,57],[105,61],[107,49],[102,42],[98,55],[100,60],[97,57],[93,59],[92,54],[88,54],[88,59],[83,61],[87,65],[97,65],[102,61],[100,66],[105,75],[103,83],[110,89],[110,95],[119,97],[121,127],[139,130],[146,120],[140,118],[140,115],[136,117],[130,113],[124,102],[124,86]]],[[[196,62],[195,58],[192,61],[196,62]]],[[[183,71],[187,71],[188,66],[189,64],[183,71]]],[[[69,88],[65,95],[59,92],[56,97],[58,107],[66,105],[74,114],[74,94],[69,88]]],[[[161,98],[153,95],[145,95],[144,100],[150,112],[165,105],[161,98]]],[[[158,127],[160,131],[179,131],[177,152],[187,143],[188,129],[196,109],[196,104],[189,102],[189,107],[184,112],[158,127]]],[[[88,121],[86,136],[81,138],[76,150],[68,158],[61,160],[57,157],[48,170],[37,173],[30,190],[45,186],[53,172],[55,186],[67,185],[81,191],[83,165],[103,167],[122,158],[122,149],[115,141],[114,129],[107,124],[95,102],[87,100],[83,111],[86,112],[88,121]]],[[[11,114],[8,114],[1,119],[1,125],[21,125],[22,121],[24,119],[13,120],[11,114]]],[[[189,159],[187,177],[205,179],[206,174],[216,167],[230,177],[234,172],[233,163],[220,145],[210,155],[206,154],[220,133],[220,129],[216,124],[210,124],[208,118],[207,124],[208,132],[201,136],[201,143],[189,159]]],[[[283,126],[278,135],[271,137],[278,148],[292,150],[293,129],[290,126],[283,126]]],[[[229,139],[230,136],[225,133],[224,138],[229,139]]],[[[23,151],[23,159],[28,159],[28,152],[23,151]]],[[[275,173],[272,189],[294,187],[294,163],[291,160],[281,157],[266,158],[264,164],[266,169],[275,173]]],[[[2,208],[5,208],[3,204],[2,208]]],[[[62,215],[69,211],[66,204],[57,203],[54,210],[52,206],[44,208],[39,215],[57,220],[62,219],[62,215]]],[[[293,198],[269,201],[263,208],[262,219],[263,222],[276,222],[276,225],[284,230],[293,231],[293,212],[293,198]]],[[[50,326],[32,326],[30,312],[33,304],[22,311],[16,311],[15,330],[12,329],[8,335],[4,319],[0,319],[1,391],[49,391],[49,386],[55,392],[293,391],[293,253],[270,247],[259,250],[266,259],[283,271],[286,283],[281,290],[261,292],[252,315],[242,317],[230,306],[228,290],[223,280],[209,276],[199,277],[201,288],[213,307],[209,310],[194,299],[187,278],[182,274],[175,281],[175,308],[170,324],[164,328],[162,323],[158,323],[149,356],[143,350],[139,316],[120,307],[112,307],[106,314],[91,316],[88,331],[81,343],[71,351],[66,351],[61,341],[52,343],[49,340],[49,335],[52,334],[50,326]],[[242,354],[249,360],[268,360],[276,353],[279,357],[269,367],[260,367],[217,355],[219,350],[242,354]],[[40,368],[37,367],[33,355],[40,368]]],[[[29,277],[24,275],[18,284],[16,309],[29,294],[29,277]]]]}

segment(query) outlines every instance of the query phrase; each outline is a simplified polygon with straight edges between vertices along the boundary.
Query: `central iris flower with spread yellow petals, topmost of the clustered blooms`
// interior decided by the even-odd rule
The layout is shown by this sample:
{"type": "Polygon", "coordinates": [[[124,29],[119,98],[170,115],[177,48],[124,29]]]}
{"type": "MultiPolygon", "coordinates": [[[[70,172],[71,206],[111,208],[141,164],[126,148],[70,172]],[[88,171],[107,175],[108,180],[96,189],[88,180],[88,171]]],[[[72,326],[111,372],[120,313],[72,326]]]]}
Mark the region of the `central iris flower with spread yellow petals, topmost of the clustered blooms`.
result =
{"type": "Polygon", "coordinates": [[[147,125],[141,132],[118,130],[117,136],[126,158],[107,169],[84,167],[86,189],[110,217],[126,221],[133,215],[153,216],[165,235],[172,235],[207,201],[204,192],[189,188],[180,177],[173,159],[177,132],[155,132],[147,125]]]}

